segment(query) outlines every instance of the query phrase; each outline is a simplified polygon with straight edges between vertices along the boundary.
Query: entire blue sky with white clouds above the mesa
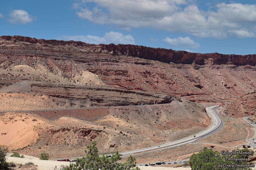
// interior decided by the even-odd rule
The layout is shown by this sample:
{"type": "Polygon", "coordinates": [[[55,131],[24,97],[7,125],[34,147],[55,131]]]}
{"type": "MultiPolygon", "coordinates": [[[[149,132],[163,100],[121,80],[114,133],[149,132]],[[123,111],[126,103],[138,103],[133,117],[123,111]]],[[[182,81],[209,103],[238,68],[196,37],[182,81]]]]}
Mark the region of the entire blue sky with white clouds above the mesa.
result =
{"type": "Polygon", "coordinates": [[[256,54],[256,1],[1,1],[1,35],[256,54]]]}

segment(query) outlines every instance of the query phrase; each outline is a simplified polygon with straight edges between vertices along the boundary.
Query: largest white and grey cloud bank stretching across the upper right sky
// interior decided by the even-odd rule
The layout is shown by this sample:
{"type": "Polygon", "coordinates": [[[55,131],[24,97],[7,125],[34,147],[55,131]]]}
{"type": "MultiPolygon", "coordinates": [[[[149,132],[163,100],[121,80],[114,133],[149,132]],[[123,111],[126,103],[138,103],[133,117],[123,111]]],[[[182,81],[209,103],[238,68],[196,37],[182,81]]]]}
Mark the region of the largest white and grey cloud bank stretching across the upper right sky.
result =
{"type": "Polygon", "coordinates": [[[255,4],[221,3],[206,11],[191,0],[81,0],[78,4],[78,17],[128,30],[148,27],[219,39],[254,37],[256,32],[255,4]],[[96,6],[84,7],[88,2],[96,6]]]}

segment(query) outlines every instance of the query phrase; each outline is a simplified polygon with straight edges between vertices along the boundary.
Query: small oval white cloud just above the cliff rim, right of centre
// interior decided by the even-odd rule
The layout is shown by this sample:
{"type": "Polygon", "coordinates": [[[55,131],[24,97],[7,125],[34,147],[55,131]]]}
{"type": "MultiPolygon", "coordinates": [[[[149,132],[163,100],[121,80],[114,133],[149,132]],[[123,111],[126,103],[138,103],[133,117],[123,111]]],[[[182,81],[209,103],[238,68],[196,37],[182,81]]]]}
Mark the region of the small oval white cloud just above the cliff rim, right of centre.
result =
{"type": "Polygon", "coordinates": [[[200,45],[195,41],[191,40],[189,37],[177,37],[177,38],[165,38],[164,42],[168,43],[170,46],[176,47],[187,47],[187,48],[198,48],[200,45]]]}

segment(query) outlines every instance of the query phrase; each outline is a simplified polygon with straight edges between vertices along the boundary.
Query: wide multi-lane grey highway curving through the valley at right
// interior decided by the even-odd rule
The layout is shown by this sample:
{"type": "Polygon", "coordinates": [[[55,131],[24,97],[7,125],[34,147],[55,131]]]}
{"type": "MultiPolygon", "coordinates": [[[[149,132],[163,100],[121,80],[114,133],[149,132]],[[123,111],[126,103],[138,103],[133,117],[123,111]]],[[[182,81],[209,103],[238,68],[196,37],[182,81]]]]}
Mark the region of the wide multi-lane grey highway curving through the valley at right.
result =
{"type": "Polygon", "coordinates": [[[218,105],[206,108],[206,111],[209,113],[209,116],[212,117],[212,120],[213,120],[212,125],[209,128],[207,128],[205,131],[196,134],[195,137],[191,136],[191,137],[183,138],[183,139],[176,140],[173,142],[164,143],[164,144],[158,145],[158,146],[137,149],[137,150],[128,151],[128,152],[122,152],[121,154],[122,155],[130,155],[130,154],[141,153],[141,152],[152,152],[152,151],[159,151],[159,150],[164,150],[164,149],[169,149],[169,148],[175,148],[178,146],[182,146],[182,145],[186,145],[188,143],[198,141],[201,138],[211,135],[211,134],[215,133],[216,131],[218,131],[223,126],[223,122],[222,122],[221,118],[215,111],[215,109],[217,107],[218,107],[218,105]]]}

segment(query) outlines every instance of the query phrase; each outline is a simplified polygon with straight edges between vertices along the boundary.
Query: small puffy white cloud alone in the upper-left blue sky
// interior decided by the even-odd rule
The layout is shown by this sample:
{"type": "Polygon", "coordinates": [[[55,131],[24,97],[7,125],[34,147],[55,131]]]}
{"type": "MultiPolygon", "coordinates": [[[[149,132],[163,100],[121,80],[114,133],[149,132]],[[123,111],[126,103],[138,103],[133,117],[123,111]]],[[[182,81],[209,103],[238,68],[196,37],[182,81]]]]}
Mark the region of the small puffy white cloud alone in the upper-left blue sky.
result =
{"type": "Polygon", "coordinates": [[[10,18],[8,21],[15,24],[27,24],[36,19],[33,16],[29,15],[27,11],[22,9],[12,10],[9,16],[10,18]]]}

